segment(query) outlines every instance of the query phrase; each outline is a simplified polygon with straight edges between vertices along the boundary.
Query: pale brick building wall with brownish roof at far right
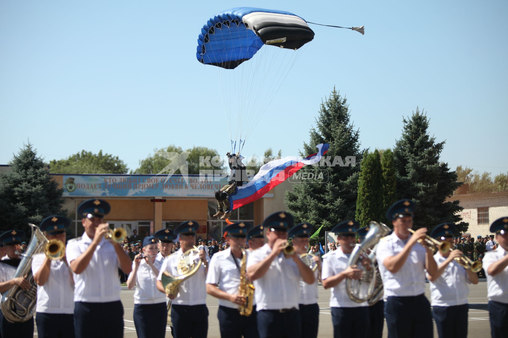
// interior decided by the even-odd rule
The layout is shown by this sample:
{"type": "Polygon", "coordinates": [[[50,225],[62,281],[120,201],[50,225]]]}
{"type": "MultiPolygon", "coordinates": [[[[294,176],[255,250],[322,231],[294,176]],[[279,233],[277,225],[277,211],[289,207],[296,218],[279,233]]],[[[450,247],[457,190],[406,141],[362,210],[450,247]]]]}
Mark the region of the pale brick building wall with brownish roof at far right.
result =
{"type": "Polygon", "coordinates": [[[447,201],[458,200],[460,206],[464,208],[460,212],[462,219],[469,223],[468,233],[471,236],[490,234],[490,224],[496,219],[508,216],[508,191],[495,193],[474,193],[454,195],[447,201]],[[478,208],[489,208],[488,223],[478,223],[478,208]]]}

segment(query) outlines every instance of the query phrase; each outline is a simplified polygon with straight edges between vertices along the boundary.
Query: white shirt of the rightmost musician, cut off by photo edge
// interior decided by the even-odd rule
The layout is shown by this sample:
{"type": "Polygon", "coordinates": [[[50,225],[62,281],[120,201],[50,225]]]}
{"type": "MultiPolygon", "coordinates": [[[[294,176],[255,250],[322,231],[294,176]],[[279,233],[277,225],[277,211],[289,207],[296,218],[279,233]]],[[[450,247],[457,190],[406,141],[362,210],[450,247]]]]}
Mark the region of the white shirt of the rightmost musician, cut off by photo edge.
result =
{"type": "Polygon", "coordinates": [[[495,276],[489,275],[489,266],[503,258],[508,251],[499,246],[494,251],[487,252],[482,260],[483,269],[487,275],[487,297],[489,301],[508,304],[508,267],[495,276]]]}

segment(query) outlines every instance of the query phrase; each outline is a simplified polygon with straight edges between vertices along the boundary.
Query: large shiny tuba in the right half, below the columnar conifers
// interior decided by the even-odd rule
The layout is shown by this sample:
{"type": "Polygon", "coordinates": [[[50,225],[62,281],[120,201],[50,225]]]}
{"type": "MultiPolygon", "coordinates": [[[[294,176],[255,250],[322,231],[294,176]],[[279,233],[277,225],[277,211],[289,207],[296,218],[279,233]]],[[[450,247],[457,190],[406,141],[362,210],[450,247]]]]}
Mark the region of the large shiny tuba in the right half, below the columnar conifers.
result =
{"type": "Polygon", "coordinates": [[[374,305],[383,297],[383,280],[377,267],[375,247],[390,231],[385,224],[371,221],[364,240],[353,249],[347,266],[356,266],[363,270],[363,274],[358,280],[346,279],[346,292],[352,301],[374,305]]]}

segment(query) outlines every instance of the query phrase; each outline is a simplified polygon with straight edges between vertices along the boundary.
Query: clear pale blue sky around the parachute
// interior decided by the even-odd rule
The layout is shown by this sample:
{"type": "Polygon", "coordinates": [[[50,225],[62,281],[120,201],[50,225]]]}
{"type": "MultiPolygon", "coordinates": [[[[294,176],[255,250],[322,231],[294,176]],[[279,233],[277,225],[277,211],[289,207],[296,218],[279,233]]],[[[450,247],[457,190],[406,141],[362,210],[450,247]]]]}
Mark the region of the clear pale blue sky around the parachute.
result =
{"type": "Polygon", "coordinates": [[[46,160],[102,149],[131,169],[169,144],[228,151],[217,71],[196,46],[208,18],[239,6],[366,31],[310,25],[244,156],[298,155],[336,86],[364,147],[392,147],[419,106],[451,168],[508,171],[506,1],[2,1],[0,164],[28,139],[46,160]]]}

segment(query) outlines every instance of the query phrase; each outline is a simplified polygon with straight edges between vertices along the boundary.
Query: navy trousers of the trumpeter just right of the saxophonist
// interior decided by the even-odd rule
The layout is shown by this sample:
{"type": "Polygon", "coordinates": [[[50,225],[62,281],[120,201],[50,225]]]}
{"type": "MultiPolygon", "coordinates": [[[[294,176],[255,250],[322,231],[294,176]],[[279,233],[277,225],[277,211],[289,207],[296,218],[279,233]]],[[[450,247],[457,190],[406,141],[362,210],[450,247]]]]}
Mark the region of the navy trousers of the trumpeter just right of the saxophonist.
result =
{"type": "Polygon", "coordinates": [[[298,310],[280,313],[278,310],[258,311],[260,338],[300,338],[302,331],[298,310]]]}

